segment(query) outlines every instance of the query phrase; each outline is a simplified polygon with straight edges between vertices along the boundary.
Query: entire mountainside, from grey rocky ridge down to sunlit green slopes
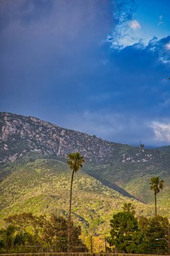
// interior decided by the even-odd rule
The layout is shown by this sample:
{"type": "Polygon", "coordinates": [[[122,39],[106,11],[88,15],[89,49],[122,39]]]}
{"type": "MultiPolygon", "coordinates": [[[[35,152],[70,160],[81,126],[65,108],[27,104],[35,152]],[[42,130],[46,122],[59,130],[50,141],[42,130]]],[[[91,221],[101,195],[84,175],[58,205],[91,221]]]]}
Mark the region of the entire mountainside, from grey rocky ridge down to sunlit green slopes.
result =
{"type": "Polygon", "coordinates": [[[67,154],[80,152],[85,166],[75,175],[73,216],[84,232],[105,232],[125,201],[136,214],[154,214],[150,179],[160,176],[158,213],[170,212],[170,152],[132,147],[11,113],[0,113],[0,216],[16,212],[68,212],[71,173],[67,154]],[[90,231],[92,230],[92,231],[90,231]]]}

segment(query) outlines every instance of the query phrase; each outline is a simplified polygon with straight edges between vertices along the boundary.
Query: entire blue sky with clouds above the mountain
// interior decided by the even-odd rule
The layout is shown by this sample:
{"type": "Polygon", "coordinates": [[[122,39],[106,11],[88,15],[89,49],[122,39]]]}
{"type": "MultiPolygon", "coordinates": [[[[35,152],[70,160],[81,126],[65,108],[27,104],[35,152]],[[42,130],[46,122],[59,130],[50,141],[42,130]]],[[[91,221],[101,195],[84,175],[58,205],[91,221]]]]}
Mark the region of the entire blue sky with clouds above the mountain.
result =
{"type": "Polygon", "coordinates": [[[0,0],[0,111],[170,145],[169,0],[0,0]]]}

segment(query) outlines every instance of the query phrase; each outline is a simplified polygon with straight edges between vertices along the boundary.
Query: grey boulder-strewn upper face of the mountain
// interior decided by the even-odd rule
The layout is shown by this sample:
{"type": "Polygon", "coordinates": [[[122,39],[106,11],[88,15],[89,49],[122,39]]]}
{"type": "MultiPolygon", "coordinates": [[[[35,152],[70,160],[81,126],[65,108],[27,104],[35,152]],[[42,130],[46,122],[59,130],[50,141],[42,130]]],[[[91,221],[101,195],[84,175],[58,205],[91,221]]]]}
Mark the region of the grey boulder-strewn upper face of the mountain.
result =
{"type": "Polygon", "coordinates": [[[0,113],[0,162],[15,161],[27,152],[59,158],[80,152],[91,162],[148,162],[157,159],[155,154],[140,147],[108,142],[35,117],[0,113]]]}

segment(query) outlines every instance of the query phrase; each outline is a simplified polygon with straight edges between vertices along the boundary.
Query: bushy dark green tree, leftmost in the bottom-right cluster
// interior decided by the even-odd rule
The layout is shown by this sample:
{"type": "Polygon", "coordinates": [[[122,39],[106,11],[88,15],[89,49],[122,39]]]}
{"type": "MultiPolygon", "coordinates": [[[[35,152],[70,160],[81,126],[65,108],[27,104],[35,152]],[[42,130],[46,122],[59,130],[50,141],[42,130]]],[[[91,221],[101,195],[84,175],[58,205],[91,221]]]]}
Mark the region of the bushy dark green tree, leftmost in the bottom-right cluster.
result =
{"type": "Polygon", "coordinates": [[[110,220],[110,246],[115,246],[118,253],[138,253],[141,250],[142,234],[138,221],[131,212],[118,212],[110,220]]]}

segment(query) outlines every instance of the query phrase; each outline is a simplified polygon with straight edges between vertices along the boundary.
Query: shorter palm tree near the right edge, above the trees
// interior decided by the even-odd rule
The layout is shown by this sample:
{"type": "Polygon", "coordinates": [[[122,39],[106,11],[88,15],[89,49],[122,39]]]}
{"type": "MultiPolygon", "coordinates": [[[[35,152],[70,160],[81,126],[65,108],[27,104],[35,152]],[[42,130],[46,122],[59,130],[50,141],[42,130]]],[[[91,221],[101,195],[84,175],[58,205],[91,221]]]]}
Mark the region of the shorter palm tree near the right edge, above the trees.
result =
{"type": "Polygon", "coordinates": [[[150,189],[154,191],[154,195],[155,195],[155,216],[156,216],[156,218],[157,218],[157,193],[160,192],[160,189],[163,190],[163,183],[164,183],[164,181],[159,180],[159,176],[151,178],[151,182],[149,183],[151,185],[150,189]]]}

